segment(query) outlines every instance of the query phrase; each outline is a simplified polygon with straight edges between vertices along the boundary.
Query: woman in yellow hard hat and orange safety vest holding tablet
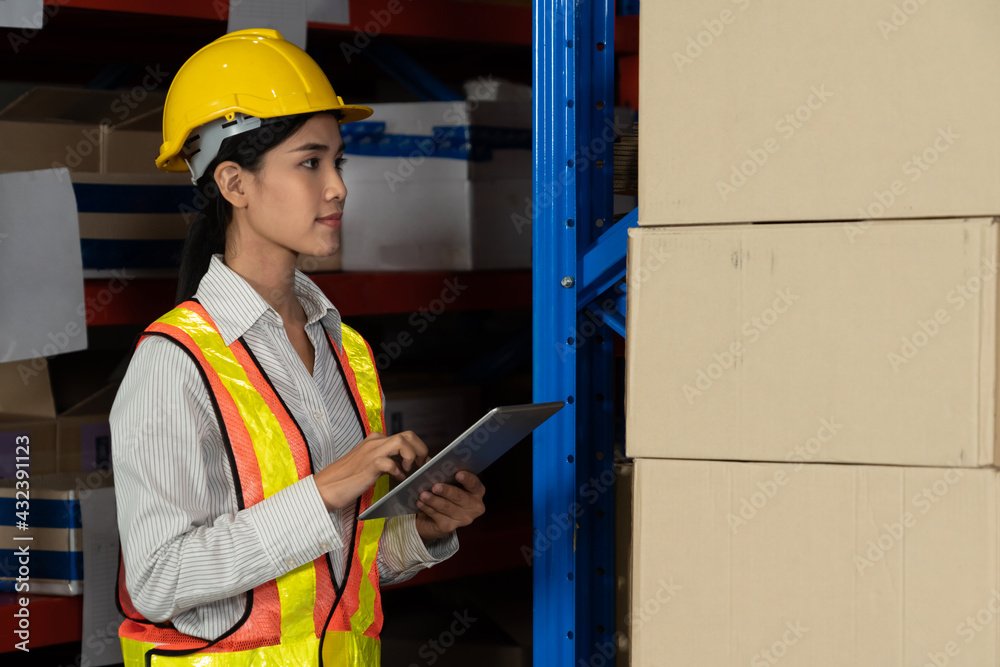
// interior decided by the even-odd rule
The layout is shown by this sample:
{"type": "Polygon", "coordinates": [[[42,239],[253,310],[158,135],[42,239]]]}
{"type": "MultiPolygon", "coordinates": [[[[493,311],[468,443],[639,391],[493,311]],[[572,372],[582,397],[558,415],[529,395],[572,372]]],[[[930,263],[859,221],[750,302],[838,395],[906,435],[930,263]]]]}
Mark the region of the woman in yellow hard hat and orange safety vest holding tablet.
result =
{"type": "Polygon", "coordinates": [[[421,465],[385,436],[368,344],[300,253],[339,246],[345,105],[273,30],[227,34],[171,83],[157,166],[200,213],[178,305],[138,337],[111,411],[126,665],[377,665],[379,585],[458,549],[470,473],[420,513],[357,514],[421,465]]]}

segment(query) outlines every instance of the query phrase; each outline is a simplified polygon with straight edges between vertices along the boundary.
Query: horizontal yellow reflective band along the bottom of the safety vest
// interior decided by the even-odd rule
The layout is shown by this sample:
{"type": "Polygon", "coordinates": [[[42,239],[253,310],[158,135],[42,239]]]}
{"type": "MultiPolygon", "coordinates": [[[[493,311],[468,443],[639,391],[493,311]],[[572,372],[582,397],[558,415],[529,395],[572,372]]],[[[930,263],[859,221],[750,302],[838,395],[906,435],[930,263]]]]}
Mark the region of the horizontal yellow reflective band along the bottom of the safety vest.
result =
{"type": "MultiPolygon", "coordinates": [[[[145,667],[146,651],[154,644],[121,637],[125,667],[145,667]]],[[[315,636],[293,644],[262,646],[246,651],[195,653],[188,656],[153,656],[153,667],[315,667],[319,664],[319,639],[315,636]]],[[[323,640],[323,667],[378,667],[381,644],[354,632],[327,632],[323,640]]]]}

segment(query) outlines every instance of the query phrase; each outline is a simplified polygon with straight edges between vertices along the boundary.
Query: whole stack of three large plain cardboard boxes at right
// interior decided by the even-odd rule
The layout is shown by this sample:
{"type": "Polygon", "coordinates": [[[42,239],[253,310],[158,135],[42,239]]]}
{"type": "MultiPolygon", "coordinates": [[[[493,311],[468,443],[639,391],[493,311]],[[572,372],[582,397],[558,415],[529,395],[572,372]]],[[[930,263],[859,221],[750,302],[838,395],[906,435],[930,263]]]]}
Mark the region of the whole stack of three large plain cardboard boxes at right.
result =
{"type": "Polygon", "coordinates": [[[643,7],[633,664],[1000,660],[998,27],[643,7]]]}

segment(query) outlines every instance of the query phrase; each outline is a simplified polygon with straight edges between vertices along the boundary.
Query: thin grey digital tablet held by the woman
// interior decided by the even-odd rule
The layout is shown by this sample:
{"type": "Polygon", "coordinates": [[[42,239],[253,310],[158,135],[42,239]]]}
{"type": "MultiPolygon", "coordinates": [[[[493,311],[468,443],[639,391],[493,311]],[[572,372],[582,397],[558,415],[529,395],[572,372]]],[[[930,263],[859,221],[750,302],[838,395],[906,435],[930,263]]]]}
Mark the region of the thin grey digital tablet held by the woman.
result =
{"type": "Polygon", "coordinates": [[[416,514],[421,493],[438,483],[461,486],[455,481],[455,475],[462,471],[478,475],[565,404],[565,401],[554,401],[493,408],[358,518],[364,521],[416,514]]]}

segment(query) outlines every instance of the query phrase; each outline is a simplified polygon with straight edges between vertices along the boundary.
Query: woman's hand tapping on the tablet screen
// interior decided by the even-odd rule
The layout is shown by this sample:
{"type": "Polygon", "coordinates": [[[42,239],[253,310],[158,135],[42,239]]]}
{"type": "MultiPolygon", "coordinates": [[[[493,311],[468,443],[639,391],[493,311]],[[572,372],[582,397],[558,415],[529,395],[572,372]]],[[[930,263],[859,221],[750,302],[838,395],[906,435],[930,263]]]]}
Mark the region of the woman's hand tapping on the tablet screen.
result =
{"type": "Polygon", "coordinates": [[[329,511],[349,507],[383,473],[396,481],[427,460],[427,445],[413,431],[384,435],[372,431],[354,449],[313,475],[329,511]]]}

